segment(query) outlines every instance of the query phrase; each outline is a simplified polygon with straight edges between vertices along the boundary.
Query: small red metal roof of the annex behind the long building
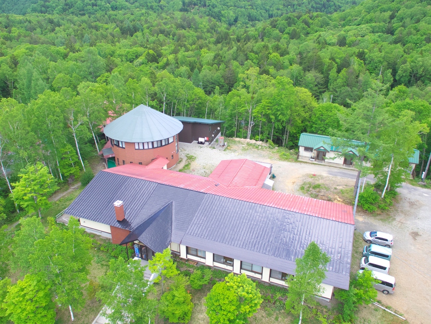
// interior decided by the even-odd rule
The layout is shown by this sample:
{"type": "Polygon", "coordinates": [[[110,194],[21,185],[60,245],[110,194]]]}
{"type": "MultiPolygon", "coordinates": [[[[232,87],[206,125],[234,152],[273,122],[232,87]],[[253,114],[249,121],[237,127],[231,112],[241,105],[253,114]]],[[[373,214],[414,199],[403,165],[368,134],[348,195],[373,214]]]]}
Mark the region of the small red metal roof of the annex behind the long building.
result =
{"type": "Polygon", "coordinates": [[[221,161],[209,178],[227,187],[261,188],[271,169],[259,163],[247,160],[221,161]]]}

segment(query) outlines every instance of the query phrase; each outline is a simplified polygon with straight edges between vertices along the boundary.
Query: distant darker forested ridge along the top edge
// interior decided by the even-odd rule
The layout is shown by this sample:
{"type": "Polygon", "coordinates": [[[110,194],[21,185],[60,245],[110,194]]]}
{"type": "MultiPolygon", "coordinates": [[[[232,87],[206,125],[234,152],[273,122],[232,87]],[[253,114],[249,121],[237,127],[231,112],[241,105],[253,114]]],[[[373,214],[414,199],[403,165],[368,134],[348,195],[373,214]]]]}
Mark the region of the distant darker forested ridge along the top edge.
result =
{"type": "Polygon", "coordinates": [[[93,15],[99,12],[130,9],[156,13],[181,11],[207,15],[233,25],[237,22],[263,21],[297,11],[333,13],[360,2],[361,0],[302,0],[289,3],[283,0],[0,0],[0,12],[93,15]]]}

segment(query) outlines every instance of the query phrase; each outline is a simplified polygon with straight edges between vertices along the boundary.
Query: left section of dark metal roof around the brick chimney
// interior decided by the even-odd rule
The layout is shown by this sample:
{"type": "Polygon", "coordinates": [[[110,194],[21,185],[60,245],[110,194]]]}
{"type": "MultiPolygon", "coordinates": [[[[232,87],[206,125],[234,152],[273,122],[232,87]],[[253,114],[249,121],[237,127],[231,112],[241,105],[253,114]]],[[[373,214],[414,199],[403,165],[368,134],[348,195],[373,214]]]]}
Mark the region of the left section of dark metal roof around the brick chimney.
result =
{"type": "Polygon", "coordinates": [[[177,228],[172,238],[180,239],[192,219],[190,215],[194,215],[204,196],[192,190],[100,171],[65,214],[133,231],[172,201],[177,228]],[[124,202],[125,219],[120,222],[115,218],[117,200],[124,202]]]}

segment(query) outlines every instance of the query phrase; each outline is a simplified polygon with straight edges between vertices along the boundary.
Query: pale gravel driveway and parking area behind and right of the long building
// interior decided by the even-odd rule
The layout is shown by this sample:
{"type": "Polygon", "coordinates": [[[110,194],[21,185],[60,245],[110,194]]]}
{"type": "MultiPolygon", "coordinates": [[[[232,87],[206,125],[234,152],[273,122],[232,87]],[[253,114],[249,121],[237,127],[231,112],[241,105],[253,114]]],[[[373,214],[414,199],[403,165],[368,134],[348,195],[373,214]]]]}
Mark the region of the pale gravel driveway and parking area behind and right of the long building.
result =
{"type": "MultiPolygon", "coordinates": [[[[229,139],[228,139],[229,141],[229,139]]],[[[311,175],[326,183],[353,186],[356,171],[306,162],[280,161],[276,149],[230,141],[230,149],[220,151],[208,146],[180,144],[180,170],[188,163],[186,155],[195,157],[186,172],[208,176],[221,160],[247,158],[273,164],[277,191],[305,196],[301,186],[311,175]]],[[[409,323],[425,324],[431,318],[431,190],[404,184],[398,189],[399,201],[388,215],[370,215],[358,211],[356,227],[360,232],[379,230],[394,235],[394,255],[390,274],[396,278],[395,294],[378,299],[404,314],[409,323]]],[[[336,201],[336,200],[335,200],[336,201]]],[[[365,244],[365,243],[364,243],[365,244]]],[[[352,269],[360,260],[352,260],[352,269]]]]}

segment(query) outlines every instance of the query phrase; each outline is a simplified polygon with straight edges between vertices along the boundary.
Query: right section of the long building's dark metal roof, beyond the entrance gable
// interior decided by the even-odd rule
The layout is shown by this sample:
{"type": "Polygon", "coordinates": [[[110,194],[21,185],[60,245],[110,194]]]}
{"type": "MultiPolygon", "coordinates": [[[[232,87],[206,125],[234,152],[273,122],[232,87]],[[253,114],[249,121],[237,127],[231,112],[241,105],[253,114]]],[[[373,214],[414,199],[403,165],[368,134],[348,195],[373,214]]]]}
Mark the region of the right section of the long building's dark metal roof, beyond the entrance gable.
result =
{"type": "Polygon", "coordinates": [[[181,244],[291,274],[315,241],[331,257],[323,283],[348,289],[354,225],[214,195],[190,224],[181,244]]]}

